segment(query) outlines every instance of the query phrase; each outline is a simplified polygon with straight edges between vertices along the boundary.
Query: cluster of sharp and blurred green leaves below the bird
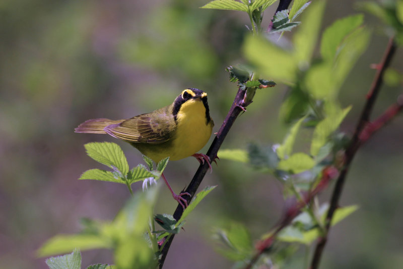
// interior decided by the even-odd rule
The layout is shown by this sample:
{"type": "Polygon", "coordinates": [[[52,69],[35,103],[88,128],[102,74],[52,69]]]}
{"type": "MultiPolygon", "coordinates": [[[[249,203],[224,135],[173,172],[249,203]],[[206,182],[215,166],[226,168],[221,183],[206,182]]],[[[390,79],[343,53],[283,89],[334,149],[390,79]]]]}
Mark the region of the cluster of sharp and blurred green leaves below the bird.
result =
{"type": "MultiPolygon", "coordinates": [[[[153,170],[152,160],[144,156],[148,168],[140,164],[129,170],[126,157],[117,144],[93,142],[85,144],[85,148],[91,158],[108,166],[113,171],[91,169],[84,172],[80,179],[125,184],[132,194],[131,198],[118,212],[113,221],[83,219],[81,233],[54,236],[38,250],[38,255],[62,254],[73,251],[76,248],[80,250],[107,248],[113,251],[115,265],[118,268],[156,267],[160,256],[159,245],[163,244],[164,237],[179,233],[185,218],[215,186],[206,187],[203,191],[200,191],[189,206],[186,207],[178,221],[165,213],[156,214],[153,217],[158,188],[152,186],[146,192],[132,193],[131,184],[149,178],[158,179],[167,166],[168,158],[162,159],[157,164],[157,170],[153,170]],[[162,230],[156,231],[154,221],[162,227],[162,230]]],[[[47,264],[51,269],[80,268],[81,254],[78,251],[74,251],[73,254],[49,258],[47,259],[47,264]],[[78,263],[78,260],[80,260],[80,263],[78,263]],[[64,265],[57,267],[57,264],[73,265],[69,265],[71,267],[64,265]]],[[[103,267],[109,266],[104,264],[92,266],[88,268],[109,268],[103,267]]]]}

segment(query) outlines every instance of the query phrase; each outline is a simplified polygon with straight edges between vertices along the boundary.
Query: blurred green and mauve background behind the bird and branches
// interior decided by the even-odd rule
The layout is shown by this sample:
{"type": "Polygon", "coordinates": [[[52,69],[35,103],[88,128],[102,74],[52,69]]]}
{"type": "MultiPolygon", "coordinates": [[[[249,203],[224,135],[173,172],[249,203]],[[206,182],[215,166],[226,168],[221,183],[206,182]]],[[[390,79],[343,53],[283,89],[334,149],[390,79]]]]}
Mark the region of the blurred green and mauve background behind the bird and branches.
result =
{"type": "MultiPolygon", "coordinates": [[[[130,167],[142,163],[141,154],[106,135],[74,133],[81,122],[151,112],[170,104],[186,87],[195,87],[208,92],[218,131],[237,91],[224,69],[243,62],[239,51],[247,33],[244,25],[250,22],[246,13],[198,9],[206,3],[0,3],[0,268],[46,268],[35,251],[47,239],[79,232],[83,217],[111,220],[128,199],[124,185],[77,180],[85,170],[102,168],[86,155],[83,144],[117,142],[130,167]]],[[[328,1],[322,29],[356,13],[355,4],[328,1]]],[[[263,27],[276,8],[266,10],[263,27]]],[[[378,21],[370,15],[365,20],[372,39],[340,95],[343,106],[353,105],[342,125],[348,134],[375,73],[369,66],[380,61],[387,43],[378,21]]],[[[403,71],[401,49],[392,66],[403,71]]],[[[396,100],[401,88],[382,89],[374,116],[396,100]]],[[[281,142],[287,126],[278,111],[286,90],[279,84],[257,92],[222,148],[281,142]]],[[[403,263],[402,126],[403,117],[397,117],[356,155],[341,205],[358,204],[360,209],[331,230],[321,268],[397,268],[403,263]]],[[[176,192],[197,167],[193,158],[168,165],[166,176],[176,192]]],[[[207,185],[218,187],[175,237],[164,268],[229,268],[232,262],[214,251],[212,226],[238,221],[255,240],[283,212],[281,184],[247,165],[221,160],[201,187],[207,185]]],[[[160,194],[155,212],[173,213],[176,202],[169,191],[164,187],[160,194]]],[[[320,201],[329,194],[321,194],[320,201]]],[[[113,262],[108,250],[82,254],[83,266],[113,262]]],[[[286,265],[302,268],[303,255],[286,265]]]]}

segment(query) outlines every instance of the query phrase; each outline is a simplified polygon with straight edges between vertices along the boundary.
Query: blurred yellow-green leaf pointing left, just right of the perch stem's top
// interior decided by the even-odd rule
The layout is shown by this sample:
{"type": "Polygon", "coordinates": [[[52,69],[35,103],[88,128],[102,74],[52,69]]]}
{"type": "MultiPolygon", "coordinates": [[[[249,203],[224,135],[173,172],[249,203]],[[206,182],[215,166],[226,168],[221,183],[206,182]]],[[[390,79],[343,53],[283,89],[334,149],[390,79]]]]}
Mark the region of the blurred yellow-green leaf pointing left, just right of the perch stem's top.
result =
{"type": "Polygon", "coordinates": [[[268,40],[249,35],[244,42],[245,57],[259,69],[260,74],[274,80],[295,80],[297,65],[291,53],[268,40]]]}

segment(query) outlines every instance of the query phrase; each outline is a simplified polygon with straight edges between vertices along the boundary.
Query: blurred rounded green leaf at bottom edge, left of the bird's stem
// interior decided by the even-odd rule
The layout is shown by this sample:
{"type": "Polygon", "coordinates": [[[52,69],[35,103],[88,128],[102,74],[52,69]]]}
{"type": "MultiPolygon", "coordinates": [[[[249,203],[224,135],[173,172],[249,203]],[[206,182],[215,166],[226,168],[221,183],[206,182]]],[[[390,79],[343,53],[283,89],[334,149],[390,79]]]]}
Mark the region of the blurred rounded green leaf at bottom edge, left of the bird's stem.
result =
{"type": "Polygon", "coordinates": [[[157,266],[154,252],[143,235],[131,234],[120,241],[114,257],[119,269],[150,269],[157,266]]]}

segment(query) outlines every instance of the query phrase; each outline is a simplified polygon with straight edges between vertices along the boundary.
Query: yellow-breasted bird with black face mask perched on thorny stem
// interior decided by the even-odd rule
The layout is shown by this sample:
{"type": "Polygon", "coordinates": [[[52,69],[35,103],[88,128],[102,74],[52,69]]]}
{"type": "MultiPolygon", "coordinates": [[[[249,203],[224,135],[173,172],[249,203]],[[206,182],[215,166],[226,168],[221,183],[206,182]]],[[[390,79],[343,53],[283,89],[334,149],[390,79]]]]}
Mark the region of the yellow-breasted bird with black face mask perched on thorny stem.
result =
{"type": "MultiPolygon", "coordinates": [[[[184,89],[172,104],[126,120],[92,119],[75,128],[76,133],[108,134],[129,142],[155,163],[165,157],[179,160],[195,157],[200,164],[209,165],[209,156],[196,153],[210,139],[214,121],[210,117],[207,93],[196,88],[184,89]]],[[[161,174],[173,198],[187,207],[185,195],[175,194],[164,174],[161,174]]]]}

